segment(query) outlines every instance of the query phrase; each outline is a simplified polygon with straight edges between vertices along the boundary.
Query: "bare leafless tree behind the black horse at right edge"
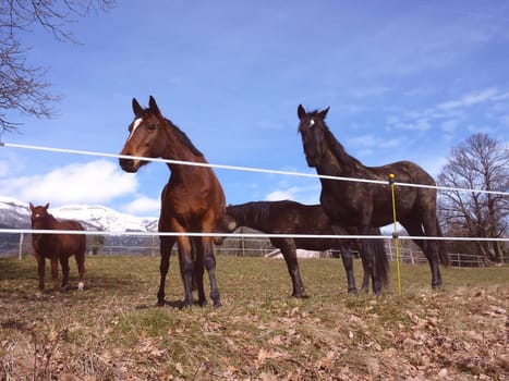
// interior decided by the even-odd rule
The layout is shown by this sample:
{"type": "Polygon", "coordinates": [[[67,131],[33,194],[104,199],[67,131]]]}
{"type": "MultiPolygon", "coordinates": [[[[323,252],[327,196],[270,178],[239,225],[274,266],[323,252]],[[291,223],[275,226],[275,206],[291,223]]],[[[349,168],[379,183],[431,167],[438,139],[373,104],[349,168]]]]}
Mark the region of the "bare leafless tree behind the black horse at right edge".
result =
{"type": "MultiPolygon", "coordinates": [[[[438,184],[456,188],[509,192],[509,149],[486,134],[470,136],[452,148],[438,184]]],[[[444,192],[439,199],[441,221],[448,234],[468,237],[507,238],[509,197],[480,192],[444,192]]],[[[504,244],[475,242],[489,261],[504,261],[504,244]]]]}

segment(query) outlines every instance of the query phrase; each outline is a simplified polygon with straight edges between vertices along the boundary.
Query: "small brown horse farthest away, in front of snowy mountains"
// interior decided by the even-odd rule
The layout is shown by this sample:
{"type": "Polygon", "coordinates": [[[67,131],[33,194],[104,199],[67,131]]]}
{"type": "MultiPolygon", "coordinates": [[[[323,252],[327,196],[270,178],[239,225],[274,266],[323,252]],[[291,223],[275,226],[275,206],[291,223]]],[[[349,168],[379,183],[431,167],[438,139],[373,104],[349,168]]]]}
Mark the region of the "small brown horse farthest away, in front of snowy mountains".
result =
{"type": "MultiPolygon", "coordinates": [[[[77,230],[83,231],[83,226],[77,221],[57,220],[48,213],[49,204],[44,207],[29,204],[32,210],[32,229],[34,230],[77,230]]],[[[85,274],[85,234],[32,234],[32,245],[34,246],[35,259],[37,260],[37,273],[39,274],[39,290],[45,290],[45,267],[46,258],[51,262],[51,278],[53,280],[53,291],[59,292],[59,269],[58,262],[62,267],[62,288],[69,281],[69,257],[74,255],[80,273],[77,288],[83,290],[83,275],[85,274]]]]}

